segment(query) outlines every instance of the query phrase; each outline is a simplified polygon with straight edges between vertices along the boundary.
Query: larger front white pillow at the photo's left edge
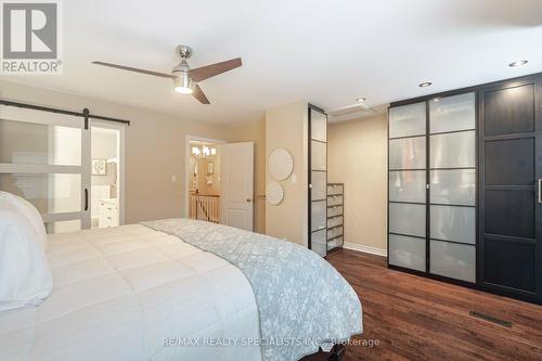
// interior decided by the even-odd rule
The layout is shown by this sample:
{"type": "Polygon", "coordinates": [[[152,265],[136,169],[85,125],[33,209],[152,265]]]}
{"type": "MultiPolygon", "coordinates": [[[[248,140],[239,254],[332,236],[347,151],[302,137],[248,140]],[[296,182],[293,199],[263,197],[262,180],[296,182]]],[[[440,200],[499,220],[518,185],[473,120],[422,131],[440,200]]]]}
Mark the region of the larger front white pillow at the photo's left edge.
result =
{"type": "Polygon", "coordinates": [[[0,197],[0,311],[39,305],[52,287],[38,232],[18,207],[0,197]]]}

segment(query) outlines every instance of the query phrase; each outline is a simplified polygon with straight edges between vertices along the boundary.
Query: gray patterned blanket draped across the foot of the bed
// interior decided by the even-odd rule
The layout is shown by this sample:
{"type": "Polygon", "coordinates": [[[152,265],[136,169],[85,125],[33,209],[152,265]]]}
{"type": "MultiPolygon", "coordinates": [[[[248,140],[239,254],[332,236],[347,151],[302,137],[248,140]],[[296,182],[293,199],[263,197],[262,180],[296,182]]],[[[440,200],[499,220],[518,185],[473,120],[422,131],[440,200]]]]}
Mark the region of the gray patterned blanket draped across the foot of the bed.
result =
{"type": "Polygon", "coordinates": [[[210,252],[245,274],[259,310],[266,361],[299,360],[320,345],[347,340],[363,330],[361,304],[352,287],[305,247],[191,219],[142,224],[210,252]]]}

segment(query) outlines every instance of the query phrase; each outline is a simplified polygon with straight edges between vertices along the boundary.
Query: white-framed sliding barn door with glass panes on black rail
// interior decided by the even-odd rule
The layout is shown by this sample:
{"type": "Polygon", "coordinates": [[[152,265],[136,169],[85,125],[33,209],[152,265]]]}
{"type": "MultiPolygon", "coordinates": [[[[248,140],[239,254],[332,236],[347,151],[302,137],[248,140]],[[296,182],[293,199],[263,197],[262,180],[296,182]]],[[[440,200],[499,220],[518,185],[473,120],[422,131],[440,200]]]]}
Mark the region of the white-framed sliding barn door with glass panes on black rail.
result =
{"type": "Polygon", "coordinates": [[[0,105],[0,191],[40,211],[48,233],[90,228],[90,133],[81,116],[0,105]]]}

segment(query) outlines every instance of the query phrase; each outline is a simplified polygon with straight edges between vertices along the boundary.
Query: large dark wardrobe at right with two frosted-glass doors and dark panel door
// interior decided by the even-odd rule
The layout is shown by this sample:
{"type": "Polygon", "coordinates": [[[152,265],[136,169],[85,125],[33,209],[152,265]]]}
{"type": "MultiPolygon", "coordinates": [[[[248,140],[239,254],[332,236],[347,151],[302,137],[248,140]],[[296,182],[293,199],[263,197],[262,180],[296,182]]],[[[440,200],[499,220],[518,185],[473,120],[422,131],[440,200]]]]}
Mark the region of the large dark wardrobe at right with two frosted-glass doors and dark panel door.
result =
{"type": "Polygon", "coordinates": [[[542,74],[395,102],[388,266],[542,304],[542,74]]]}

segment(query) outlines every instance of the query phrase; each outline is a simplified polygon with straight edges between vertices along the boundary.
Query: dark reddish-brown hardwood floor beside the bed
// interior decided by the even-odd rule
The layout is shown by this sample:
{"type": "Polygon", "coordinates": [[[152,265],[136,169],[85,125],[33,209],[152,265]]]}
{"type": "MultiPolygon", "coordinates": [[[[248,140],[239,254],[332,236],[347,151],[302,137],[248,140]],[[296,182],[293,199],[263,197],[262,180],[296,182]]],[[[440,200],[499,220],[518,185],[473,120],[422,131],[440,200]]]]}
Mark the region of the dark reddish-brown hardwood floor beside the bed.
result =
{"type": "Polygon", "coordinates": [[[353,338],[378,341],[348,346],[343,361],[542,360],[542,306],[389,270],[385,258],[352,250],[327,260],[361,299],[364,332],[353,338]]]}

